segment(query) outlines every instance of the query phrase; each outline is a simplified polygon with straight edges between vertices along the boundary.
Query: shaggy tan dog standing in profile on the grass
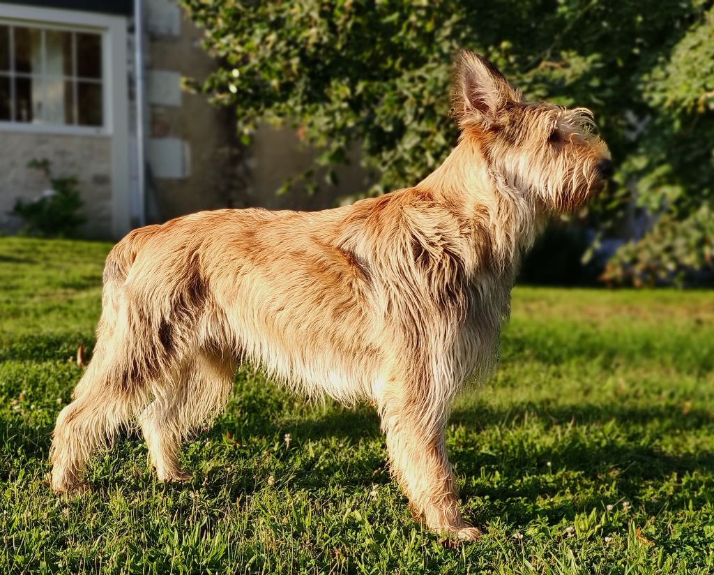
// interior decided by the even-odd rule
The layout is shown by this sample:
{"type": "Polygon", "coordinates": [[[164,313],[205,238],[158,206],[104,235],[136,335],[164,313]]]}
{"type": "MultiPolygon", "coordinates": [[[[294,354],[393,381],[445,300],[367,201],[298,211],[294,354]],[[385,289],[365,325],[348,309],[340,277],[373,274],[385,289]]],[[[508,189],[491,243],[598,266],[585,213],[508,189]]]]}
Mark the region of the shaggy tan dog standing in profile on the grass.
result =
{"type": "Polygon", "coordinates": [[[376,404],[391,471],[431,529],[476,539],[444,447],[454,396],[496,359],[523,251],[611,171],[585,109],[522,101],[464,52],[458,146],[420,184],[318,211],[207,211],[135,230],[104,271],[97,343],[57,419],[52,489],[139,418],[162,480],[238,361],[310,397],[376,404]]]}

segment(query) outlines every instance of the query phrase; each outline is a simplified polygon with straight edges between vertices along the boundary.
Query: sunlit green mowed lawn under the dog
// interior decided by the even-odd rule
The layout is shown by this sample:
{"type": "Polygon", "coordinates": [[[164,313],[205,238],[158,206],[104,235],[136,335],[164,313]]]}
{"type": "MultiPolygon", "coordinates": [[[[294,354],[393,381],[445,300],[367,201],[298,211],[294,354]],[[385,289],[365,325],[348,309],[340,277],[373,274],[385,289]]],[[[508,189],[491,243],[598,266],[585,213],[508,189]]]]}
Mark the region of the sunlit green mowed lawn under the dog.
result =
{"type": "Polygon", "coordinates": [[[307,404],[251,366],[186,445],[193,481],[157,482],[129,431],[91,492],[52,496],[109,247],[0,239],[0,573],[714,572],[711,291],[513,291],[501,363],[447,430],[476,543],[413,520],[373,409],[307,404]]]}

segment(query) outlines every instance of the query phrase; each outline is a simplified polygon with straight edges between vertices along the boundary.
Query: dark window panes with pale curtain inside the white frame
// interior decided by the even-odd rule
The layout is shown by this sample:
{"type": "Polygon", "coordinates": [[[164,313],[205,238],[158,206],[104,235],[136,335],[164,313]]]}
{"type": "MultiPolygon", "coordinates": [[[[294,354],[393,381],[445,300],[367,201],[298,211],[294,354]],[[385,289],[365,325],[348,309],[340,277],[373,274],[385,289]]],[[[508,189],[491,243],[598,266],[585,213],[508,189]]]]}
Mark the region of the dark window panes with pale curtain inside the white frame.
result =
{"type": "Polygon", "coordinates": [[[104,126],[102,35],[0,21],[0,121],[104,126]]]}

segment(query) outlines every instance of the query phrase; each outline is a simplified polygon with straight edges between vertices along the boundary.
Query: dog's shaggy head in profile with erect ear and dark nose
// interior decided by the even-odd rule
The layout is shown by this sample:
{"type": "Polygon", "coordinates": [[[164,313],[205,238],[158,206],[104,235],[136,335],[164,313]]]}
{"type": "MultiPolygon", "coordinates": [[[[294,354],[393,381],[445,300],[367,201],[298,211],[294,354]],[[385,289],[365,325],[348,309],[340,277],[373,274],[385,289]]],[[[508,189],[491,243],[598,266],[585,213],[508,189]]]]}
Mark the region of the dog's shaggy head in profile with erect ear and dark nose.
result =
{"type": "Polygon", "coordinates": [[[573,211],[603,187],[610,152],[588,109],[523,101],[496,66],[470,51],[456,64],[453,114],[494,176],[548,211],[573,211]]]}

